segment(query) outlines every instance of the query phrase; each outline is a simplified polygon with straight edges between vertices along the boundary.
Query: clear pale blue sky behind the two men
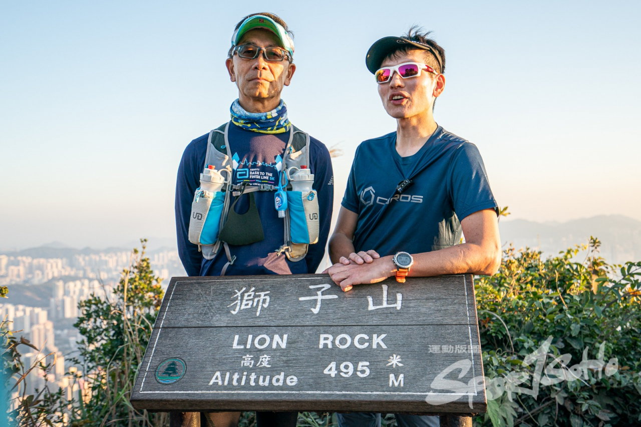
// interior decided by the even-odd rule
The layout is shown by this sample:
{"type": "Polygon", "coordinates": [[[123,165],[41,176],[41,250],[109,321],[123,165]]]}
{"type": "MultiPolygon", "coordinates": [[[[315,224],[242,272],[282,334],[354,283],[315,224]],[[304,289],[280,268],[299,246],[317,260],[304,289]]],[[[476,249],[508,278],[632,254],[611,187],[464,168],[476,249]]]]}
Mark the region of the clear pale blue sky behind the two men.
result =
{"type": "Polygon", "coordinates": [[[290,120],[334,159],[395,130],[365,52],[413,24],[446,52],[435,118],[475,143],[510,218],[641,220],[635,1],[0,1],[0,249],[175,238],[187,144],[229,120],[233,27],[277,13],[290,120]]]}

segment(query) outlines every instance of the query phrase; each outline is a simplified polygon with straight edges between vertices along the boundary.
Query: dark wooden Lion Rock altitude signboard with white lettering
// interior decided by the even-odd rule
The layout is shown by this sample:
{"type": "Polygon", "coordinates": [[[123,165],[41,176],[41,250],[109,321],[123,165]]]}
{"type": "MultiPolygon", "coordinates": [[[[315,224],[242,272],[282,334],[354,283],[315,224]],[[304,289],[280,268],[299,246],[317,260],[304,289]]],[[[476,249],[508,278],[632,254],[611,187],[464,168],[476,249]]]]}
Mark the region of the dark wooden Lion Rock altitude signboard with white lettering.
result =
{"type": "Polygon", "coordinates": [[[172,278],[131,395],[150,411],[485,412],[471,275],[172,278]]]}

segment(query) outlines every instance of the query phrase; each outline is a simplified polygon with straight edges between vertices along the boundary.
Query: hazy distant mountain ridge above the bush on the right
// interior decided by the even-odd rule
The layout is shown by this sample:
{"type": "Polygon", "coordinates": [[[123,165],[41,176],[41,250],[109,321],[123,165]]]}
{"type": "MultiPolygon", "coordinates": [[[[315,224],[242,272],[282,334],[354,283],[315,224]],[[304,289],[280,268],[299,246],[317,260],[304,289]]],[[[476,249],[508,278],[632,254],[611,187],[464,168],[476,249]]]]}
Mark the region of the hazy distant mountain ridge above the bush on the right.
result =
{"type": "Polygon", "coordinates": [[[641,261],[641,221],[623,215],[599,215],[568,222],[499,222],[501,241],[516,248],[528,246],[553,255],[571,246],[601,240],[601,256],[610,263],[641,261]]]}

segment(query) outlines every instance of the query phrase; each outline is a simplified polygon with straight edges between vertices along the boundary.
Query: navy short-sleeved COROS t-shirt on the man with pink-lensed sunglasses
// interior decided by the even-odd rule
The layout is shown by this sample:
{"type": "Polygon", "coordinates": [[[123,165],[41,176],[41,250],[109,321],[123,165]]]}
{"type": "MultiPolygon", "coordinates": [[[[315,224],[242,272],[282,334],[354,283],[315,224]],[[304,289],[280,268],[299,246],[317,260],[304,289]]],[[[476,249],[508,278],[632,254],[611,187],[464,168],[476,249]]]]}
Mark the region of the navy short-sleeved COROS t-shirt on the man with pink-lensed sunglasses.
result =
{"type": "Polygon", "coordinates": [[[356,149],[342,201],[358,214],[356,252],[387,256],[447,248],[460,241],[460,220],[497,207],[476,145],[440,126],[412,156],[399,156],[395,145],[394,132],[356,149]],[[395,195],[403,179],[414,182],[395,195]]]}

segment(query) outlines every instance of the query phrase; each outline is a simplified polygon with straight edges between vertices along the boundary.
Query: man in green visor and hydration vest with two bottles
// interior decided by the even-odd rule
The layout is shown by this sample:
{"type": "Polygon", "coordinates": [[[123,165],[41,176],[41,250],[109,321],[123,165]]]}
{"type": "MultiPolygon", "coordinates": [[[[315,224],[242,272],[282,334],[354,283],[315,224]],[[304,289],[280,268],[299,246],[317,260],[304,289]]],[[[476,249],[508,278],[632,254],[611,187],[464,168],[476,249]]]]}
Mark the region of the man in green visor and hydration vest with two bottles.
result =
{"type": "MultiPolygon", "coordinates": [[[[178,252],[190,276],[315,273],[324,256],[333,171],[325,145],[288,120],[281,92],[293,61],[294,41],[278,16],[238,22],[226,60],[238,87],[231,120],[191,141],[178,169],[178,252]],[[296,204],[304,211],[289,209],[296,204]]],[[[201,414],[201,426],[235,426],[239,415],[201,414]]],[[[258,426],[296,419],[256,414],[258,426]]]]}

